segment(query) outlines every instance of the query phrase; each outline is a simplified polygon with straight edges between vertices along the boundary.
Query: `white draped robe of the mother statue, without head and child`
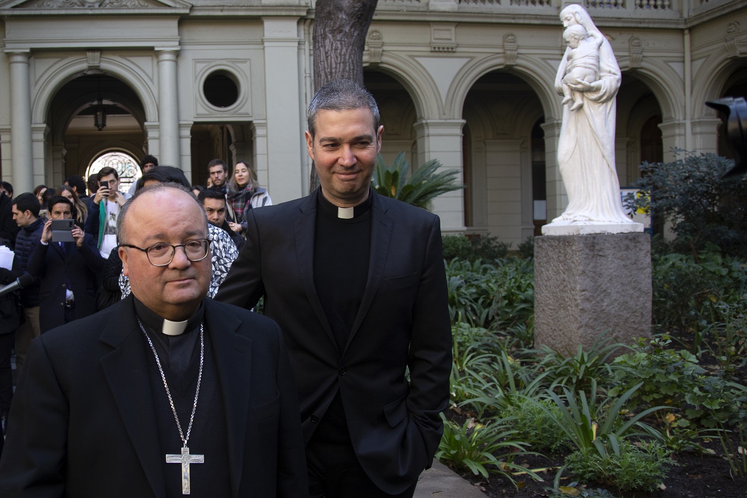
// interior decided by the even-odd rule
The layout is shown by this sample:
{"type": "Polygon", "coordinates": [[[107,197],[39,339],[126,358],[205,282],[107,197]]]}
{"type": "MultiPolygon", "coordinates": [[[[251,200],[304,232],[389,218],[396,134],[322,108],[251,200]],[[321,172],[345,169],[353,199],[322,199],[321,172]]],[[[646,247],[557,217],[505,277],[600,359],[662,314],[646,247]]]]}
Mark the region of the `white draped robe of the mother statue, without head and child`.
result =
{"type": "MultiPolygon", "coordinates": [[[[559,93],[568,50],[555,80],[559,93]]],[[[563,106],[558,166],[568,193],[568,208],[553,222],[632,222],[622,208],[615,168],[616,94],[621,76],[607,40],[600,47],[599,81],[599,90],[583,92],[582,108],[570,111],[569,105],[563,106]]]]}

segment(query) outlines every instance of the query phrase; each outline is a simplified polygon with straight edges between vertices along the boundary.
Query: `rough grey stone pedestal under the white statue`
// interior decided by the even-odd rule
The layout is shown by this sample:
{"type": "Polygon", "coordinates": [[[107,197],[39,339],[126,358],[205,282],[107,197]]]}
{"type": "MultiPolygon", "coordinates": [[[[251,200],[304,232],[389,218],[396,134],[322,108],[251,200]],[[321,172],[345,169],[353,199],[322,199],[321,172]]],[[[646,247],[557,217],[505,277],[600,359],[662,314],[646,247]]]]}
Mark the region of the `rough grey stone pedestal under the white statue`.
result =
{"type": "Polygon", "coordinates": [[[605,331],[629,344],[651,335],[648,234],[548,235],[534,244],[537,347],[575,352],[605,331]]]}

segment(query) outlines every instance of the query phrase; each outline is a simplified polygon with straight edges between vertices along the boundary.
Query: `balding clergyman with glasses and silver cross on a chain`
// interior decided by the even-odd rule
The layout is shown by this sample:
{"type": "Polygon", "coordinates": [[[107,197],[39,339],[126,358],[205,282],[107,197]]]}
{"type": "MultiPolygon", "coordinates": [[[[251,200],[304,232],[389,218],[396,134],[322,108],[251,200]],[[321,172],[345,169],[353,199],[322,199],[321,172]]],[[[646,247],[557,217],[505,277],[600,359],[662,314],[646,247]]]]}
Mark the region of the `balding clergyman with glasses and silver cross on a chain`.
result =
{"type": "Polygon", "coordinates": [[[118,219],[132,295],[31,343],[0,496],[299,498],[306,462],[272,320],[205,299],[205,211],[138,190],[118,219]]]}

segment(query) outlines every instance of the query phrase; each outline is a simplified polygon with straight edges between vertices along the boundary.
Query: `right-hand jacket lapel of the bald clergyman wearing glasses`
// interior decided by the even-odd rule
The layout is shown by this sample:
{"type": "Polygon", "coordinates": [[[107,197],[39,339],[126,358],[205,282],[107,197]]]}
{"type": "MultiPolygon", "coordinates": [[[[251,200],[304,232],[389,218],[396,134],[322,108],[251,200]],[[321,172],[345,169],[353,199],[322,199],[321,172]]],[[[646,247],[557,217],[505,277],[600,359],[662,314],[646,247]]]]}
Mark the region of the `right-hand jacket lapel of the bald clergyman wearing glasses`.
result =
{"type": "MultiPolygon", "coordinates": [[[[238,497],[247,451],[247,417],[252,373],[252,341],[241,334],[241,321],[217,311],[211,299],[205,299],[205,325],[213,346],[215,367],[226,411],[226,440],[233,497],[238,497]]],[[[261,449],[249,448],[251,451],[261,449]]]]}

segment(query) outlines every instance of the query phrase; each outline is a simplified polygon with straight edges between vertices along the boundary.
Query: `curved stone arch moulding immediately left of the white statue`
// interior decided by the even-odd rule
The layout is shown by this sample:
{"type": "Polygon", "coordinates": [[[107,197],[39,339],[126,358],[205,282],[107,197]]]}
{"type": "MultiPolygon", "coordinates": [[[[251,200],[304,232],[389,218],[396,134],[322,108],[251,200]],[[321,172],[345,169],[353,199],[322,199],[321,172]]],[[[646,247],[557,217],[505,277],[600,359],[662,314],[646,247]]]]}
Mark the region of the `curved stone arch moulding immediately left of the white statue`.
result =
{"type": "Polygon", "coordinates": [[[547,63],[542,63],[536,57],[523,55],[519,55],[516,58],[515,65],[512,66],[506,66],[503,55],[490,55],[465,64],[456,73],[456,77],[449,88],[445,112],[450,116],[461,116],[467,93],[471,87],[483,75],[496,69],[502,69],[517,75],[529,84],[539,98],[539,102],[542,103],[545,119],[556,119],[555,116],[562,115],[560,97],[556,96],[553,87],[555,81],[553,67],[547,63]]]}

